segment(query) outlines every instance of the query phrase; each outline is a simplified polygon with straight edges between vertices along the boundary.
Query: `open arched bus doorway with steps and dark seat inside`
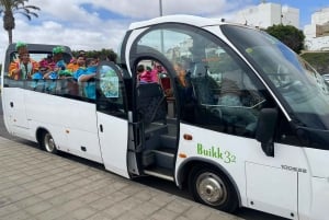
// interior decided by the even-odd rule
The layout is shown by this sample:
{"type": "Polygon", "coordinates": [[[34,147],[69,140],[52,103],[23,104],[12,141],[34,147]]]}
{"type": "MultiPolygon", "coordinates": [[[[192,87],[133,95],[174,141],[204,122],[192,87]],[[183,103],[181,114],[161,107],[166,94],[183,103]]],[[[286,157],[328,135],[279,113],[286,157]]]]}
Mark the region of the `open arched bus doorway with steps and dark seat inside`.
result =
{"type": "Polygon", "coordinates": [[[133,118],[138,172],[173,182],[179,131],[174,95],[169,95],[169,74],[173,70],[161,54],[149,47],[138,47],[132,57],[133,70],[137,72],[133,73],[137,83],[133,86],[133,118]]]}

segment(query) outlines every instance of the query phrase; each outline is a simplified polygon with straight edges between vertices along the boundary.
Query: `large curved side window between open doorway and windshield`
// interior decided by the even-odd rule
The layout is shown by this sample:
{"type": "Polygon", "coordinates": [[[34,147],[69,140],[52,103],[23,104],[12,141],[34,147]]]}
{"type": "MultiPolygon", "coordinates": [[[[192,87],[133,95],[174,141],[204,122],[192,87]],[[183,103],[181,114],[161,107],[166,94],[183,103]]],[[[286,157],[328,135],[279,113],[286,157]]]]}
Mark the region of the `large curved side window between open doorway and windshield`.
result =
{"type": "MultiPolygon", "coordinates": [[[[223,42],[192,27],[151,30],[137,42],[171,62],[168,74],[180,118],[192,125],[253,137],[265,99],[251,70],[223,42]]],[[[155,54],[150,50],[149,54],[155,54]]],[[[171,85],[171,90],[172,90],[171,85]]]]}

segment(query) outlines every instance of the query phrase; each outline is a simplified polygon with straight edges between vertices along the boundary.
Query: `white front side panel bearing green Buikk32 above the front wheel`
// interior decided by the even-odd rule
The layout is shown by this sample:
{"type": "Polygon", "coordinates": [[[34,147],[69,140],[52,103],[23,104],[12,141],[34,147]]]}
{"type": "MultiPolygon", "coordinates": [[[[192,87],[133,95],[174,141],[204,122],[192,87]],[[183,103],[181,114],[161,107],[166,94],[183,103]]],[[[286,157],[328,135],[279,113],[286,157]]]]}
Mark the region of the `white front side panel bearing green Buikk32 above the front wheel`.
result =
{"type": "Polygon", "coordinates": [[[285,167],[308,169],[306,157],[303,148],[280,143],[274,143],[274,158],[266,157],[260,142],[251,138],[181,124],[178,154],[188,158],[178,157],[175,178],[179,180],[179,169],[189,158],[212,161],[232,178],[243,207],[297,219],[299,173],[285,167]],[[192,140],[183,138],[186,134],[192,140]]]}

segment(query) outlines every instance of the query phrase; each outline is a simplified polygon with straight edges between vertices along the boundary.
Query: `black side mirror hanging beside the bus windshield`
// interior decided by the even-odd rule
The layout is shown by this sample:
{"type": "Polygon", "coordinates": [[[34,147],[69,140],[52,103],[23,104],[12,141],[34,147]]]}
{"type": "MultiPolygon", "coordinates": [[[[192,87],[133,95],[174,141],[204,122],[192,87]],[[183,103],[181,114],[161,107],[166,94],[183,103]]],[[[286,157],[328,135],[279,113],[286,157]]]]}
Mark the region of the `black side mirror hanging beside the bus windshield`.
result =
{"type": "Polygon", "coordinates": [[[261,109],[256,128],[256,139],[261,142],[262,150],[268,157],[274,157],[273,137],[275,132],[276,120],[277,109],[261,109]]]}

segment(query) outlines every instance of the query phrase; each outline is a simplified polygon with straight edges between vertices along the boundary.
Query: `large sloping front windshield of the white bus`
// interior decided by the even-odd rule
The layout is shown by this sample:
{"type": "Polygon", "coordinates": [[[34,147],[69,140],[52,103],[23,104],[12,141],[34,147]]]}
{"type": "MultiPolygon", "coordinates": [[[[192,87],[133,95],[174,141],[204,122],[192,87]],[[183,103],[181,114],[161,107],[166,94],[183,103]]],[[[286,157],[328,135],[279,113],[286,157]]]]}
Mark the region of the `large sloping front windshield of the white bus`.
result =
{"type": "Polygon", "coordinates": [[[251,28],[225,25],[223,33],[253,65],[284,103],[292,119],[329,129],[329,90],[321,76],[276,38],[251,28]]]}

